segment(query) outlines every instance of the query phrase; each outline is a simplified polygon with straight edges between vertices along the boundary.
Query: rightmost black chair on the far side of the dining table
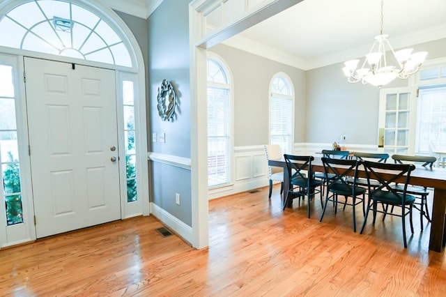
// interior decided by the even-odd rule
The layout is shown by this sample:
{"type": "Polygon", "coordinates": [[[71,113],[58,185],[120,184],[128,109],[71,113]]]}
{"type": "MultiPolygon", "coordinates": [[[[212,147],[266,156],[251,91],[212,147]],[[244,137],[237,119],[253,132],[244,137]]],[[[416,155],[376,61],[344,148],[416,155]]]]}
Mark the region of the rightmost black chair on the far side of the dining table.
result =
{"type": "MultiPolygon", "coordinates": [[[[437,161],[436,157],[429,155],[392,155],[392,159],[395,163],[403,164],[403,163],[413,163],[415,167],[432,167],[433,164],[437,161]]],[[[401,191],[402,185],[396,184],[394,185],[396,190],[401,191]]],[[[426,187],[421,187],[417,185],[409,185],[406,192],[410,195],[415,195],[417,200],[413,207],[420,211],[420,228],[421,231],[424,230],[423,217],[427,219],[428,222],[432,222],[431,215],[429,215],[429,208],[427,207],[427,197],[429,196],[429,190],[426,187]]]]}

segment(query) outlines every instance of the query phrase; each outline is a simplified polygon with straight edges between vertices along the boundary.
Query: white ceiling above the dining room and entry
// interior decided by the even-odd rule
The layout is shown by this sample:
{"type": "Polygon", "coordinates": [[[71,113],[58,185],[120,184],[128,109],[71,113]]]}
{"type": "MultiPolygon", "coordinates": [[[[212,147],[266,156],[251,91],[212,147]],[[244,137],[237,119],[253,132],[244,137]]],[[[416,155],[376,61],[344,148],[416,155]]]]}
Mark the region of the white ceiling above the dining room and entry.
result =
{"type": "MultiPolygon", "coordinates": [[[[148,17],[162,0],[102,2],[148,17]]],[[[395,50],[446,38],[446,0],[385,0],[383,11],[395,50]]],[[[380,0],[304,0],[224,43],[308,70],[364,56],[379,33],[380,0]]]]}

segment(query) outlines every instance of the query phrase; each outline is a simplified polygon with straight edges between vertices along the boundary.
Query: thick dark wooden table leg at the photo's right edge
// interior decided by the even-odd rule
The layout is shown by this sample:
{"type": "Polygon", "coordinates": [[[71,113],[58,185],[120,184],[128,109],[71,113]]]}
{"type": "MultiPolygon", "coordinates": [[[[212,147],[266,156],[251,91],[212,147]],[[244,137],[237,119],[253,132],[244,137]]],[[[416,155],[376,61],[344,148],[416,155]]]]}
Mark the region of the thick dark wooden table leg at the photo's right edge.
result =
{"type": "Polygon", "coordinates": [[[433,191],[431,238],[429,250],[441,252],[445,244],[446,229],[446,190],[435,188],[433,191]]]}

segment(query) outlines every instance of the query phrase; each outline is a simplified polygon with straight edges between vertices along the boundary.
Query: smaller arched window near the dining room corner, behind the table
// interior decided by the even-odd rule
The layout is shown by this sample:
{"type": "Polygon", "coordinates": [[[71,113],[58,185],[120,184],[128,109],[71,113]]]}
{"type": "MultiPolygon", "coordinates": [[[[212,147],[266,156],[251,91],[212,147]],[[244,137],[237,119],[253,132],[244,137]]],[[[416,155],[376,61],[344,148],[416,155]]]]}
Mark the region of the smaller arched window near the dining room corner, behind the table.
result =
{"type": "Polygon", "coordinates": [[[293,108],[291,79],[278,73],[270,84],[270,144],[279,144],[282,153],[293,153],[293,108]]]}

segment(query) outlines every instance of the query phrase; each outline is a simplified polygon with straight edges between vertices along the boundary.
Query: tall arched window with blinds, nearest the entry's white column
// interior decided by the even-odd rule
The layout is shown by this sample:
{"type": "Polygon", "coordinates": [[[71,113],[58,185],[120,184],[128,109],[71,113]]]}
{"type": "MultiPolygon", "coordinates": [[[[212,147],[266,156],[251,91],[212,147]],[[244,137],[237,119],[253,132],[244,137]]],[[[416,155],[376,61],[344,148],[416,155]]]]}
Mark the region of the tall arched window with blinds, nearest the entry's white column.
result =
{"type": "Polygon", "coordinates": [[[223,63],[208,59],[208,186],[231,181],[231,80],[223,63]]]}

